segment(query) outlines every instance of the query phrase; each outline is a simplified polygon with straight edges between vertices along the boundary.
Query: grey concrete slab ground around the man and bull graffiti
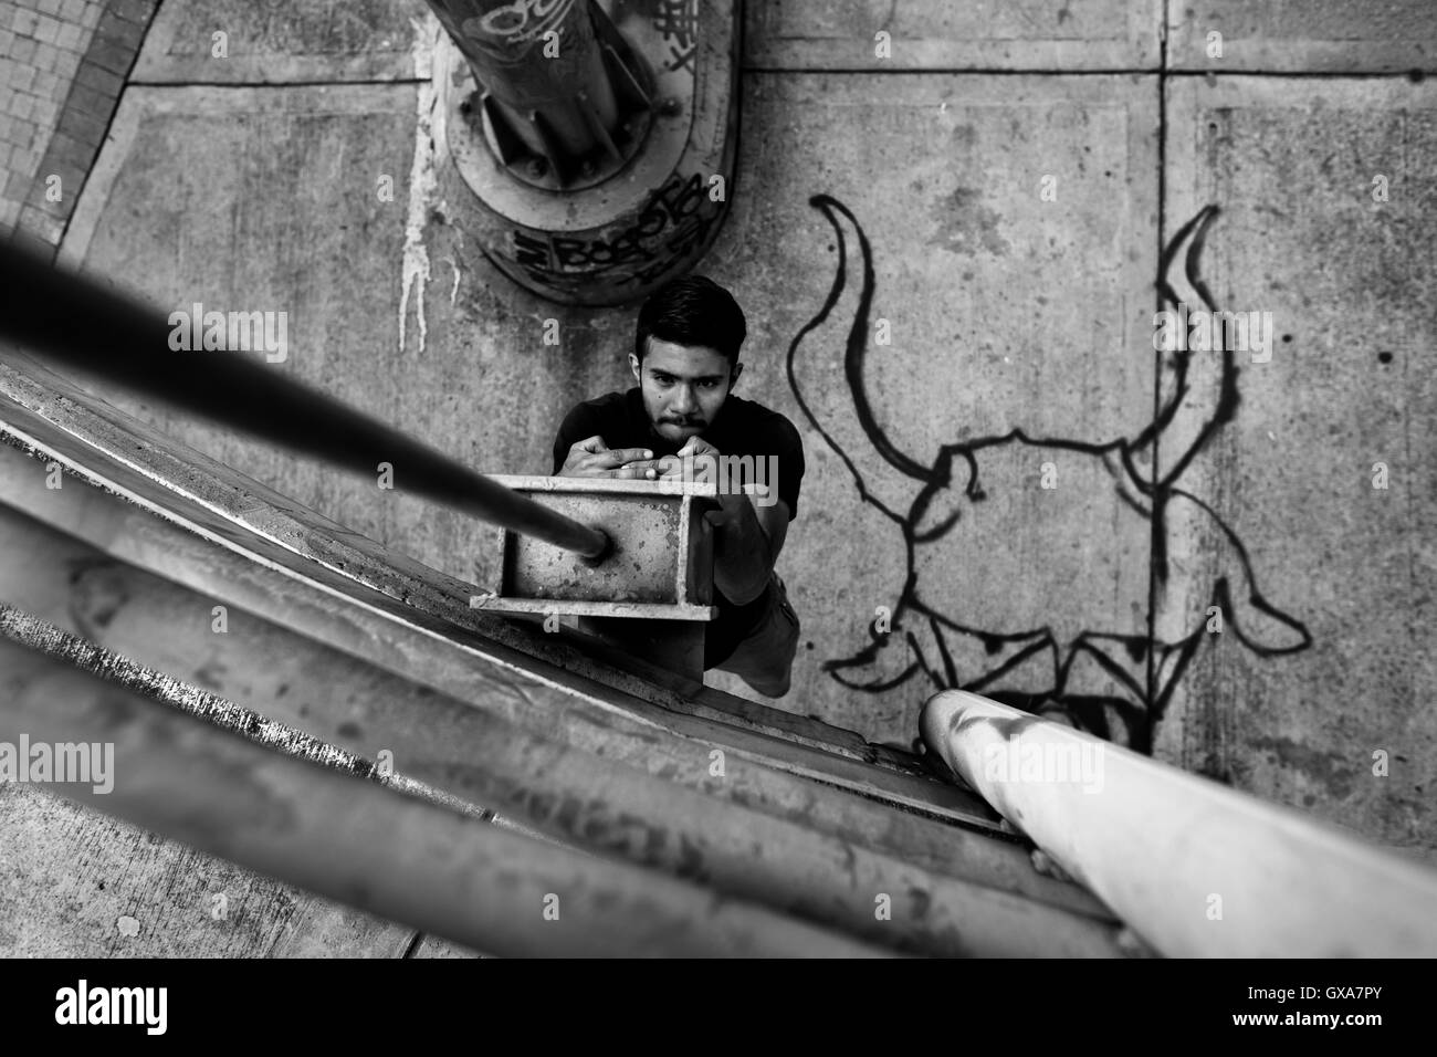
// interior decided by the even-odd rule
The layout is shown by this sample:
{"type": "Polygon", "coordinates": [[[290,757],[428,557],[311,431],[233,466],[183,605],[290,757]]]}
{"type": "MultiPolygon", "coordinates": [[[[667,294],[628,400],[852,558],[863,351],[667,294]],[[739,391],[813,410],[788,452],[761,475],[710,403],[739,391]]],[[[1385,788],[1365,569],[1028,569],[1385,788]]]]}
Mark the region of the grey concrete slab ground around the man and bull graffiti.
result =
{"type": "MultiPolygon", "coordinates": [[[[628,384],[632,309],[543,302],[466,234],[427,134],[420,4],[293,7],[161,7],[62,257],[167,306],[287,311],[276,370],[479,469],[546,472],[563,411],[628,384]],[[217,17],[228,60],[208,58],[217,17]]],[[[1437,337],[1437,142],[1407,73],[1437,72],[1424,0],[747,7],[734,207],[701,270],[749,314],[740,394],[809,459],[780,703],[902,743],[938,686],[1061,703],[1437,847],[1437,418],[1415,358],[1437,337]],[[1277,338],[1267,362],[1180,371],[1152,347],[1160,253],[1210,203],[1201,278],[1277,338]]],[[[1170,278],[1200,303],[1181,257],[1170,278]]],[[[458,516],[115,403],[422,562],[496,575],[458,516]]]]}

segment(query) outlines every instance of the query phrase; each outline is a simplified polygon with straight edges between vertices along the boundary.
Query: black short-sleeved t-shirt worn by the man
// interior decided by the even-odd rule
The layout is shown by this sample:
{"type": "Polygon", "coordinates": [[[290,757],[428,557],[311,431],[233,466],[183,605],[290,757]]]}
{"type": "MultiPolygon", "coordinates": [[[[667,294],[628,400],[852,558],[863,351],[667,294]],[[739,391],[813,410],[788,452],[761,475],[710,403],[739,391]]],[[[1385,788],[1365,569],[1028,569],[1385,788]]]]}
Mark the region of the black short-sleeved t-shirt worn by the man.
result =
{"type": "MultiPolygon", "coordinates": [[[[553,441],[553,473],[558,475],[563,467],[570,447],[592,436],[604,437],[604,443],[609,447],[647,447],[655,459],[677,454],[683,446],[683,441],[674,443],[654,433],[644,410],[644,395],[637,385],[627,393],[605,393],[602,397],[576,404],[563,417],[553,441]]],[[[776,479],[779,499],[789,508],[789,521],[798,516],[799,483],[803,479],[803,440],[786,416],[752,400],[730,395],[708,429],[698,436],[724,456],[753,456],[754,462],[775,456],[776,463],[763,463],[772,476],[762,476],[760,480],[772,485],[776,479]]],[[[747,467],[740,472],[740,479],[741,483],[753,483],[749,480],[747,467]]],[[[718,616],[708,624],[704,636],[706,669],[727,660],[749,634],[763,616],[766,595],[760,594],[747,605],[734,605],[716,585],[714,605],[718,607],[718,616]]]]}

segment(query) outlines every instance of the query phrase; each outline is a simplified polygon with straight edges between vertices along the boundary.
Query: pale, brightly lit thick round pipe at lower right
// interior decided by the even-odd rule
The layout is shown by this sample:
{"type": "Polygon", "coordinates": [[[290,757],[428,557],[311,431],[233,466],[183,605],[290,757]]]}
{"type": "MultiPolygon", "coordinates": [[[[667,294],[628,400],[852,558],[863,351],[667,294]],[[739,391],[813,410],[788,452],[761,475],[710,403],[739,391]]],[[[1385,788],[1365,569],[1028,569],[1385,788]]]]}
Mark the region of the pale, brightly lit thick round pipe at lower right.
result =
{"type": "Polygon", "coordinates": [[[964,690],[923,738],[1171,956],[1437,955],[1437,870],[1357,834],[964,690]]]}

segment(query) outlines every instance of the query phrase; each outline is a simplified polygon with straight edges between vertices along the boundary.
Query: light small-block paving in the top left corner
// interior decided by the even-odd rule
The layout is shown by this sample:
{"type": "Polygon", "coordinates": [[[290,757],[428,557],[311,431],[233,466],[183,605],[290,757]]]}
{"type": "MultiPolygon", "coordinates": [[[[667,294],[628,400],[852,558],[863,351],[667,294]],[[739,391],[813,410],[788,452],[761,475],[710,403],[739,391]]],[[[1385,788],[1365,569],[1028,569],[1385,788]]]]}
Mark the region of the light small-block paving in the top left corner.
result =
{"type": "Polygon", "coordinates": [[[55,246],[157,0],[0,0],[0,233],[55,246]]]}

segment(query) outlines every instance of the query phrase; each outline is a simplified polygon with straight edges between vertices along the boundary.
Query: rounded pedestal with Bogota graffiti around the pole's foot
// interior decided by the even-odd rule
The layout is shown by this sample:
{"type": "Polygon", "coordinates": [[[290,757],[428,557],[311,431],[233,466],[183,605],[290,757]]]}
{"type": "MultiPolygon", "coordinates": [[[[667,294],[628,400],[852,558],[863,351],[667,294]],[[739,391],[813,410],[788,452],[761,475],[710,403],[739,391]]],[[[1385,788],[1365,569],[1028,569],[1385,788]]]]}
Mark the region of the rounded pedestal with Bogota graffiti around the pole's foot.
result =
{"type": "Polygon", "coordinates": [[[568,174],[568,187],[558,174],[514,174],[504,154],[513,160],[523,145],[506,148],[486,132],[470,63],[450,36],[440,40],[434,83],[443,134],[457,175],[479,200],[466,230],[504,275],[560,303],[621,305],[700,260],[733,190],[740,14],[734,0],[625,4],[614,27],[652,73],[648,129],[612,175],[568,174]],[[555,187],[536,186],[550,175],[555,187]]]}

